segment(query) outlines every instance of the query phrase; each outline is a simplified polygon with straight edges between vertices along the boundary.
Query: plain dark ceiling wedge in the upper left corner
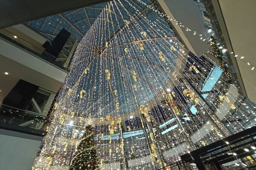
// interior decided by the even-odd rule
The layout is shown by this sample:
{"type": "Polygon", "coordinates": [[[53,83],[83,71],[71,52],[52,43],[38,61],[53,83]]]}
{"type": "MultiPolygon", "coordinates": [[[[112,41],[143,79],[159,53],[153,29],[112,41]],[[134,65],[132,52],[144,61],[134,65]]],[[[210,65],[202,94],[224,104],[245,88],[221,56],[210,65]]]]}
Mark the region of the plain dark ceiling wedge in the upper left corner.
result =
{"type": "Polygon", "coordinates": [[[0,29],[109,0],[0,0],[0,29]]]}

